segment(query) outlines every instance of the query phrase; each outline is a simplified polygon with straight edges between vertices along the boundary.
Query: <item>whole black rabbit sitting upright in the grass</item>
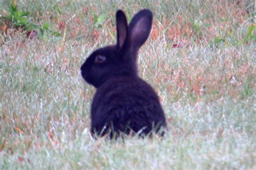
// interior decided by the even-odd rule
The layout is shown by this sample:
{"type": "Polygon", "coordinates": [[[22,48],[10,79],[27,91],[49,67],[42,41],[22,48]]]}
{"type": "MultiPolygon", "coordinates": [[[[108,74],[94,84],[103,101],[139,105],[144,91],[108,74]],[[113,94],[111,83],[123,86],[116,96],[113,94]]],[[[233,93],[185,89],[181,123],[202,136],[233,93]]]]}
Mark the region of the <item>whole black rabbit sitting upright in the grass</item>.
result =
{"type": "Polygon", "coordinates": [[[91,104],[91,134],[110,138],[152,132],[164,135],[166,119],[153,88],[138,76],[138,50],[149,37],[152,12],[144,9],[129,25],[116,13],[117,44],[99,48],[81,66],[83,79],[97,90],[91,104]]]}

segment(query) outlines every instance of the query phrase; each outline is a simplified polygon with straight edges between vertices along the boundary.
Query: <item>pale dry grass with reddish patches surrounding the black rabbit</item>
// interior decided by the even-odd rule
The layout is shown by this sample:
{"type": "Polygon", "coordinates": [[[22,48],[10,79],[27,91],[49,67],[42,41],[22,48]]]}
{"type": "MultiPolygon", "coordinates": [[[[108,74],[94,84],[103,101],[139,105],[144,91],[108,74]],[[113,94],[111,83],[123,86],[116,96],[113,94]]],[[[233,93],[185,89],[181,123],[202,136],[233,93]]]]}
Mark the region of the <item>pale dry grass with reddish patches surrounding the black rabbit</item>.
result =
{"type": "MultiPolygon", "coordinates": [[[[0,2],[6,15],[9,1],[0,2]]],[[[255,169],[255,11],[251,1],[17,1],[31,24],[1,25],[0,169],[255,169]],[[139,72],[156,89],[164,138],[92,139],[95,92],[79,68],[115,43],[114,15],[154,13],[139,72]],[[5,28],[5,30],[3,29],[5,28]]]]}

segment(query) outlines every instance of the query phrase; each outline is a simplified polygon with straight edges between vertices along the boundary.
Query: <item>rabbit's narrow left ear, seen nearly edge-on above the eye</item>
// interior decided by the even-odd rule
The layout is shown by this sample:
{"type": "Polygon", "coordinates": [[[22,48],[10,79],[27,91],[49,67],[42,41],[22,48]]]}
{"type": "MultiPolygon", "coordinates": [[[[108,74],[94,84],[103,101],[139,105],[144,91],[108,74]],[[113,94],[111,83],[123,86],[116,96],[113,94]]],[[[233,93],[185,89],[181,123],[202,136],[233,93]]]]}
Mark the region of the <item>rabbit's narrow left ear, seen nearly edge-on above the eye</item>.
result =
{"type": "Polygon", "coordinates": [[[127,19],[122,10],[116,13],[117,22],[117,46],[122,48],[128,34],[127,19]]]}

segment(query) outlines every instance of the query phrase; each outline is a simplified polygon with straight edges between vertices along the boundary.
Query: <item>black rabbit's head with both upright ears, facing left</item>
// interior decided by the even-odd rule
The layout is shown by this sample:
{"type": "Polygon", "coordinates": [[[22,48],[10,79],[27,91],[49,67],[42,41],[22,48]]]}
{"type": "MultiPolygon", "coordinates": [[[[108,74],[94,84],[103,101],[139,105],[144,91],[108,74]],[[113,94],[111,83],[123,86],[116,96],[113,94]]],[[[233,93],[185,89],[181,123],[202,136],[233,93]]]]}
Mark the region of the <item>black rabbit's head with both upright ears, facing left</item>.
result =
{"type": "Polygon", "coordinates": [[[137,53],[149,37],[152,18],[151,11],[144,9],[127,25],[124,12],[118,10],[117,44],[99,48],[86,59],[81,67],[85,81],[98,88],[111,77],[138,76],[137,53]]]}

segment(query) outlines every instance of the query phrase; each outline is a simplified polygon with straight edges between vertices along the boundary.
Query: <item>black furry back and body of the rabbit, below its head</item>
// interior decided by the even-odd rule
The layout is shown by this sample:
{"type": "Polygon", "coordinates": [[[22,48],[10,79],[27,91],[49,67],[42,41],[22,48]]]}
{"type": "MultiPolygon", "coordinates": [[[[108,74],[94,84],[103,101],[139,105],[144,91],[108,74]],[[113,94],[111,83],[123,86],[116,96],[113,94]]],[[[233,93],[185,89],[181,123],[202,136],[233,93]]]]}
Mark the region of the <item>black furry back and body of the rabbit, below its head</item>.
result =
{"type": "Polygon", "coordinates": [[[153,88],[139,77],[114,77],[100,86],[91,105],[91,133],[100,136],[158,132],[166,126],[153,88]]]}

